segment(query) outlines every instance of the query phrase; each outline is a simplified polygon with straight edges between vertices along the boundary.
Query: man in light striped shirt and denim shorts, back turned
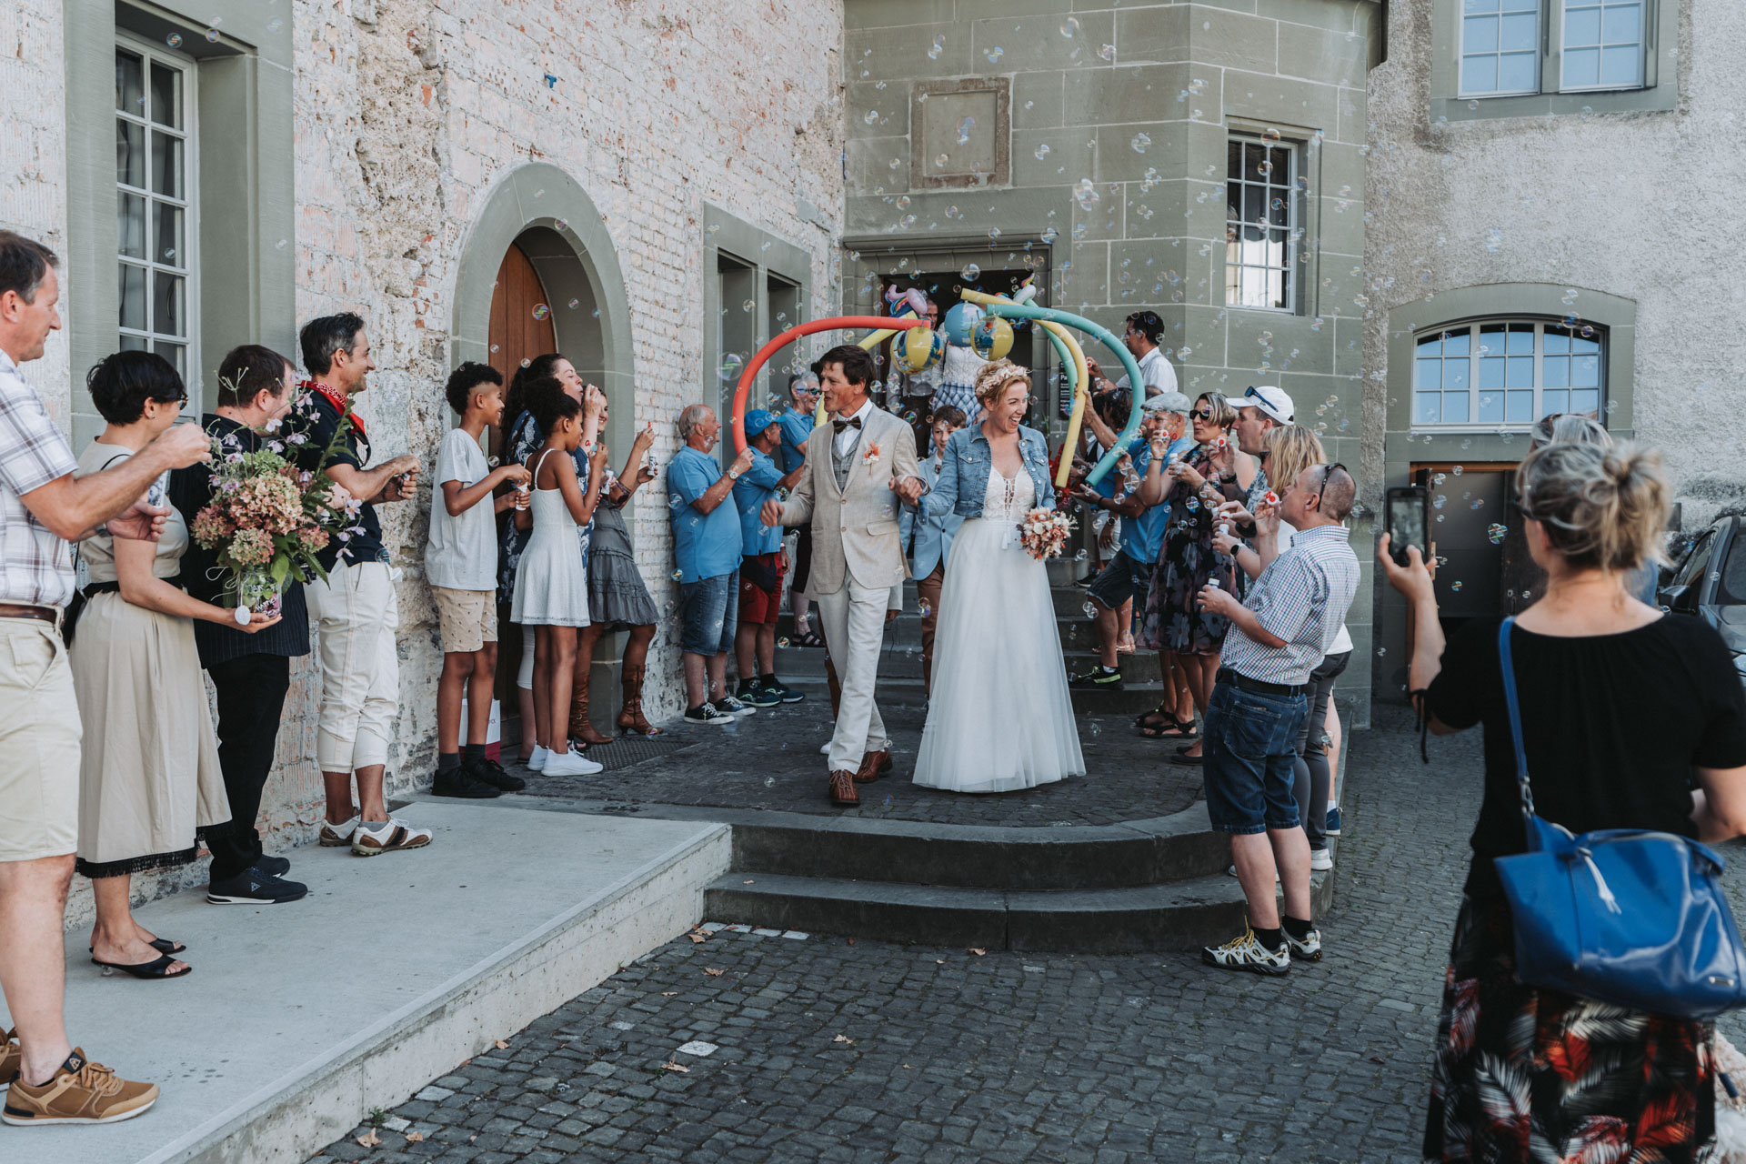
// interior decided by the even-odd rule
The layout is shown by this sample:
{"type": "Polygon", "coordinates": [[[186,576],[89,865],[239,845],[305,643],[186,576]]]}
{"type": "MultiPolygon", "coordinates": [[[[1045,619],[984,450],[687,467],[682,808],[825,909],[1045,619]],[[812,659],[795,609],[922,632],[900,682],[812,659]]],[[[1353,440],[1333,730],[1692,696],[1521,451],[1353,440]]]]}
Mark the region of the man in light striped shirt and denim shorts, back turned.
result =
{"type": "Polygon", "coordinates": [[[1208,585],[1200,604],[1229,635],[1206,705],[1206,815],[1231,836],[1248,927],[1201,960],[1226,970],[1285,974],[1294,958],[1322,958],[1310,916],[1310,841],[1292,791],[1297,733],[1310,714],[1310,672],[1327,658],[1358,590],[1358,558],[1343,522],[1357,483],[1341,464],[1304,469],[1278,506],[1255,515],[1261,576],[1241,602],[1208,585]],[[1297,534],[1278,550],[1278,524],[1297,534]],[[1283,887],[1280,914],[1275,883],[1283,887]]]}

